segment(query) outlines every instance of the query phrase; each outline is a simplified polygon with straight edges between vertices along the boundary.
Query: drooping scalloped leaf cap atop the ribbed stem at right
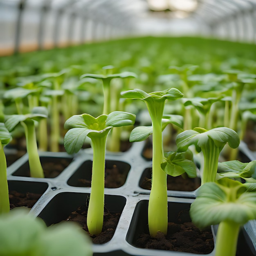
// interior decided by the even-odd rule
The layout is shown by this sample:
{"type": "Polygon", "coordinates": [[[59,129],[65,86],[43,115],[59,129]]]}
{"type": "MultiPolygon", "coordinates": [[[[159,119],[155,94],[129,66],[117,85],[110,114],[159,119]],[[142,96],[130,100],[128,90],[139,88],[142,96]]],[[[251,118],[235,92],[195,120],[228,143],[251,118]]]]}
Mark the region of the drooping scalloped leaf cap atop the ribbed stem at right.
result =
{"type": "Polygon", "coordinates": [[[240,139],[234,130],[227,127],[218,127],[211,130],[203,130],[202,128],[194,128],[186,130],[177,135],[176,144],[178,151],[186,151],[190,145],[195,145],[198,152],[200,148],[207,144],[209,137],[213,139],[215,145],[222,149],[226,143],[231,148],[237,148],[240,139]],[[200,130],[200,132],[198,132],[200,130]]]}

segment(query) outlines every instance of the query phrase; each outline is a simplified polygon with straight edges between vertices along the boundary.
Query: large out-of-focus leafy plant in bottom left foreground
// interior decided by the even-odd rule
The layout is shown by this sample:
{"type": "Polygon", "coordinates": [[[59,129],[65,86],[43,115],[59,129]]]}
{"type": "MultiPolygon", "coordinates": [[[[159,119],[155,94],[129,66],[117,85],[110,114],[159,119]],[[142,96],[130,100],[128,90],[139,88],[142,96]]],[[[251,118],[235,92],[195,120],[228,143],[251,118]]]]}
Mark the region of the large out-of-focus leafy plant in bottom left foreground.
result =
{"type": "Polygon", "coordinates": [[[92,256],[92,242],[74,222],[47,227],[45,222],[16,208],[0,215],[0,255],[92,256]],[[8,231],[8,232],[7,232],[8,231]]]}

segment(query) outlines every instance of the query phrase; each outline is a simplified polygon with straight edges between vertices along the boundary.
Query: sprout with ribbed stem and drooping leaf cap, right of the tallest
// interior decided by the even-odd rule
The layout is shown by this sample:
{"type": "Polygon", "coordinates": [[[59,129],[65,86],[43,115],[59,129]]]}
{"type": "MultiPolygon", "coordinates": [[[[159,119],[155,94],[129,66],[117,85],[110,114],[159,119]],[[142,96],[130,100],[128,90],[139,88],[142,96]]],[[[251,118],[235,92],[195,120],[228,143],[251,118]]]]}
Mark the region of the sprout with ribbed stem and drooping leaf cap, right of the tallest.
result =
{"type": "Polygon", "coordinates": [[[218,159],[225,144],[228,143],[231,148],[237,148],[240,140],[237,133],[227,127],[211,130],[196,127],[178,134],[176,143],[178,152],[186,151],[191,145],[195,145],[198,152],[202,150],[204,164],[203,169],[201,167],[201,184],[204,184],[215,181],[218,159]]]}

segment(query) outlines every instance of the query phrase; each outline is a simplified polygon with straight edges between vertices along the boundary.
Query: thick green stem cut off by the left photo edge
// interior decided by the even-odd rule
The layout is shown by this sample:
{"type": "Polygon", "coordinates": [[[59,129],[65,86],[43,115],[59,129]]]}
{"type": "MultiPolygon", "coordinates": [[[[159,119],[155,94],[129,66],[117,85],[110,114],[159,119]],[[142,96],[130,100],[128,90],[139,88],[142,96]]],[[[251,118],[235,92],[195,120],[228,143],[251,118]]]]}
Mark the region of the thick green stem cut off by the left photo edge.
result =
{"type": "Polygon", "coordinates": [[[10,211],[6,158],[0,141],[0,215],[10,211]]]}

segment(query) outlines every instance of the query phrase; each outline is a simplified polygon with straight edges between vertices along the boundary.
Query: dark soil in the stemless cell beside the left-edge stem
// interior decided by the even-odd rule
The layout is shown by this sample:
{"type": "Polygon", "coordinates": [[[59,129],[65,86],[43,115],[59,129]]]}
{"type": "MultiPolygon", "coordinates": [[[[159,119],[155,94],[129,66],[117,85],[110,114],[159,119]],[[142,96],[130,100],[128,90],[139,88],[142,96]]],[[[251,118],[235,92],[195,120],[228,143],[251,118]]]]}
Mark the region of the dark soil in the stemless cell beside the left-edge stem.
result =
{"type": "Polygon", "coordinates": [[[41,196],[41,193],[9,191],[10,209],[22,206],[32,208],[41,196]]]}

